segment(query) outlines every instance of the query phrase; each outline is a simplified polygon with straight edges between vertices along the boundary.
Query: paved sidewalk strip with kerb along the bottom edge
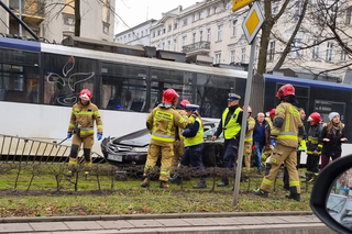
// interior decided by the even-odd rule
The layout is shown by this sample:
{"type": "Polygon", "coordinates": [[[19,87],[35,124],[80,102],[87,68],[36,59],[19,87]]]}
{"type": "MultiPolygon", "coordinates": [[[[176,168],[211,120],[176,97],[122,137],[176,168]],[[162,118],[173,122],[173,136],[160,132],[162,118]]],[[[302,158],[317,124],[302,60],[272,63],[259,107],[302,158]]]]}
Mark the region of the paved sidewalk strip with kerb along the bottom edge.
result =
{"type": "Polygon", "coordinates": [[[183,213],[0,219],[0,233],[290,234],[336,233],[312,212],[183,213]]]}

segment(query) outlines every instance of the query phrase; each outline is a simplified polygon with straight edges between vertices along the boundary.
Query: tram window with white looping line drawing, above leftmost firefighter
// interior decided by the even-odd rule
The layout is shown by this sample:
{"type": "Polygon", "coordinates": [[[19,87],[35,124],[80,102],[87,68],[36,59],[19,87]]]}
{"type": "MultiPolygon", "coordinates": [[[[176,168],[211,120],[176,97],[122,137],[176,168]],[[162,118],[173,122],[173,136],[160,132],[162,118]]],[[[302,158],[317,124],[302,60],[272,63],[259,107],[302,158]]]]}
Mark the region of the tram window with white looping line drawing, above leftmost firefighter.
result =
{"type": "Polygon", "coordinates": [[[81,57],[44,54],[44,103],[72,107],[81,89],[95,102],[96,62],[81,57]]]}

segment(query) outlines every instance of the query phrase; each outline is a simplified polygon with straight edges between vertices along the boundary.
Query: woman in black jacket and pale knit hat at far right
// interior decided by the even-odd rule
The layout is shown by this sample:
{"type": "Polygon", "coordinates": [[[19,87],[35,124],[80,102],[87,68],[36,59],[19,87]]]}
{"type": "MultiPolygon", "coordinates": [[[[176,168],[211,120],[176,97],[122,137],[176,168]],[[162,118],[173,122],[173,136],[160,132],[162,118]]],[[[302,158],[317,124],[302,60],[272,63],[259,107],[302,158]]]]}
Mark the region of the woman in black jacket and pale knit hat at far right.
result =
{"type": "Polygon", "coordinates": [[[338,112],[329,114],[330,122],[322,129],[321,138],[323,142],[321,151],[321,170],[329,164],[330,157],[332,160],[341,157],[341,143],[346,142],[344,135],[344,124],[340,121],[338,112]]]}

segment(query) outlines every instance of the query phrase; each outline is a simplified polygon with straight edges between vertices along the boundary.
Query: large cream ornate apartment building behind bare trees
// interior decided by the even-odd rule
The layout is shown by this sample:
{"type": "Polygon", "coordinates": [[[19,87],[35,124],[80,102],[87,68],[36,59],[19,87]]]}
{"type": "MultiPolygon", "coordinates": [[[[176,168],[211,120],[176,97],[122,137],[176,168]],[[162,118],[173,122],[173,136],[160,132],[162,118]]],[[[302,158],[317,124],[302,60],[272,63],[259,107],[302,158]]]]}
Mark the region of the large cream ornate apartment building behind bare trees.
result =
{"type": "MultiPolygon", "coordinates": [[[[151,45],[157,49],[183,52],[188,57],[206,55],[212,57],[213,64],[248,64],[251,48],[243,34],[242,23],[249,8],[232,12],[232,0],[205,0],[186,9],[183,9],[182,5],[172,9],[152,25],[151,45]]],[[[278,13],[282,3],[283,1],[279,0],[272,2],[274,15],[278,13]]],[[[312,7],[311,2],[310,8],[312,7]]],[[[268,45],[268,73],[278,62],[286,46],[283,42],[289,40],[301,11],[302,1],[290,1],[287,12],[275,24],[273,29],[275,33],[268,45]]],[[[343,10],[340,21],[351,25],[351,8],[343,10]]],[[[292,51],[279,69],[283,75],[317,79],[317,74],[326,69],[346,65],[349,57],[336,41],[311,38],[316,29],[315,23],[319,23],[317,19],[304,20],[301,30],[292,45],[292,51]],[[304,49],[307,45],[312,44],[316,45],[310,49],[304,49]]],[[[352,29],[349,29],[346,33],[352,35],[352,29]]],[[[257,36],[260,37],[261,34],[257,36]]],[[[349,42],[351,40],[348,36],[344,40],[345,44],[352,43],[349,42]]],[[[255,65],[258,47],[260,40],[256,45],[255,65]]],[[[351,66],[346,66],[336,71],[321,74],[319,79],[341,81],[350,68],[351,66]]]]}

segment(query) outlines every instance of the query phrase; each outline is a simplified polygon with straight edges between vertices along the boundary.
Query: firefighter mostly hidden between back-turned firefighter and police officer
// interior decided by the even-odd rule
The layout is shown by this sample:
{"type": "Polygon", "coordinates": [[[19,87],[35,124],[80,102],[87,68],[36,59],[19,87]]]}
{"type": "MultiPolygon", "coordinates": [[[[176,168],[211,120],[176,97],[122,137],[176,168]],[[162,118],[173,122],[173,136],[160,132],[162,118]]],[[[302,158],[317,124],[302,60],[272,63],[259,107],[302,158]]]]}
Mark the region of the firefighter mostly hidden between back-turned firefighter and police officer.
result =
{"type": "MultiPolygon", "coordinates": [[[[185,100],[182,100],[176,107],[176,111],[183,118],[187,116],[186,104],[190,104],[190,103],[188,100],[185,99],[185,100]]],[[[185,153],[184,140],[185,137],[182,134],[182,129],[176,126],[176,138],[174,142],[174,157],[173,157],[172,168],[176,168],[178,166],[179,160],[185,153]]]]}

